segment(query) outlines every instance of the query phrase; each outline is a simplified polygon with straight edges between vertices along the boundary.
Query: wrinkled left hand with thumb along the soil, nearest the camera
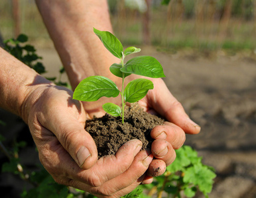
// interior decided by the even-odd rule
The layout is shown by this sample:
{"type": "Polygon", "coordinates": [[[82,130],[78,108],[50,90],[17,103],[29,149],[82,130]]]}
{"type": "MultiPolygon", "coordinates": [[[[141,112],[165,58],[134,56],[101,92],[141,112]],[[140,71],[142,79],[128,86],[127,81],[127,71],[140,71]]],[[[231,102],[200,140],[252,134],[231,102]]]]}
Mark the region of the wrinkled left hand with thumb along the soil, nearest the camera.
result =
{"type": "Polygon", "coordinates": [[[153,154],[140,151],[139,140],[97,160],[94,140],[84,129],[89,115],[81,102],[72,100],[70,90],[40,85],[23,106],[40,162],[56,182],[97,197],[121,197],[147,180],[153,154]]]}

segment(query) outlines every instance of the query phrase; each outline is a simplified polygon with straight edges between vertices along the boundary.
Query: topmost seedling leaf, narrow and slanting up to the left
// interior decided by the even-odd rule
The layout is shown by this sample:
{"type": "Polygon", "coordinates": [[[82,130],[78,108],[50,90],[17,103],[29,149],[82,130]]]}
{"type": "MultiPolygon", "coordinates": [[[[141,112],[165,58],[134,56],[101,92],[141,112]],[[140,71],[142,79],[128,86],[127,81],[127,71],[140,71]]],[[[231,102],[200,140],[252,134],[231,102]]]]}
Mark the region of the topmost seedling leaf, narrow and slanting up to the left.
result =
{"type": "Polygon", "coordinates": [[[94,33],[99,37],[105,48],[115,55],[115,57],[119,59],[123,57],[123,46],[113,34],[107,31],[97,30],[96,28],[94,28],[94,33]]]}

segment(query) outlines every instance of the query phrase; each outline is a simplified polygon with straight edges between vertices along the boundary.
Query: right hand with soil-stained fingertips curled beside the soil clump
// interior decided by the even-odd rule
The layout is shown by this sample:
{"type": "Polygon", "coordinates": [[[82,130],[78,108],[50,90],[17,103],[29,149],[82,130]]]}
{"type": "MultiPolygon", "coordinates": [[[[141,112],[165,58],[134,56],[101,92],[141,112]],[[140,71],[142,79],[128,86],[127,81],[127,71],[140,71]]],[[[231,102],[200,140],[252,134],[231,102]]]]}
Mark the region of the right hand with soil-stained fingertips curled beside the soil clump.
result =
{"type": "Polygon", "coordinates": [[[154,89],[149,90],[147,96],[139,101],[139,105],[145,111],[158,114],[167,120],[165,125],[159,125],[151,131],[151,137],[155,139],[151,152],[155,159],[149,166],[148,175],[160,176],[166,170],[166,166],[174,161],[176,157],[174,149],[183,145],[186,139],[185,133],[199,133],[200,126],[188,117],[162,79],[150,80],[154,83],[154,89]]]}

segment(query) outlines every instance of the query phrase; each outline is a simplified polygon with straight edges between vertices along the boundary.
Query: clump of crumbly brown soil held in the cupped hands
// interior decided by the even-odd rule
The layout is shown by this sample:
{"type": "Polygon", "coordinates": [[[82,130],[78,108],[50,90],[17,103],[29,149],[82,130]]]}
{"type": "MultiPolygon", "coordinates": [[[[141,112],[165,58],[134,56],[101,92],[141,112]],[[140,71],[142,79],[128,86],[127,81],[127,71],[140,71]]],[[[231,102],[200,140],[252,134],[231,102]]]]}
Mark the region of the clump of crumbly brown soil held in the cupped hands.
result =
{"type": "Polygon", "coordinates": [[[125,123],[121,117],[105,114],[86,121],[86,131],[92,135],[99,158],[115,154],[119,147],[131,139],[139,139],[142,149],[151,148],[153,127],[163,125],[164,119],[144,112],[137,103],[125,106],[125,123]]]}

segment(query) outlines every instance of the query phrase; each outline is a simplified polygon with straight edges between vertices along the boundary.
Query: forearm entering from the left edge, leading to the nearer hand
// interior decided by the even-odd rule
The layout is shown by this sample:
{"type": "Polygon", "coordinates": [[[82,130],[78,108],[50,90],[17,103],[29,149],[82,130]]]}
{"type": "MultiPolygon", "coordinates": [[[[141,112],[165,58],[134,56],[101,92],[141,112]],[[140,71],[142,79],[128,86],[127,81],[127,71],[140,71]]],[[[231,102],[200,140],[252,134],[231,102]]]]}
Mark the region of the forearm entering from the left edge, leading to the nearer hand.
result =
{"type": "Polygon", "coordinates": [[[0,108],[26,120],[25,100],[42,84],[50,84],[33,69],[0,48],[0,108]]]}

